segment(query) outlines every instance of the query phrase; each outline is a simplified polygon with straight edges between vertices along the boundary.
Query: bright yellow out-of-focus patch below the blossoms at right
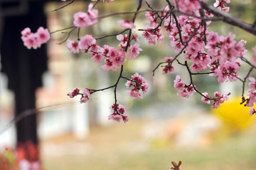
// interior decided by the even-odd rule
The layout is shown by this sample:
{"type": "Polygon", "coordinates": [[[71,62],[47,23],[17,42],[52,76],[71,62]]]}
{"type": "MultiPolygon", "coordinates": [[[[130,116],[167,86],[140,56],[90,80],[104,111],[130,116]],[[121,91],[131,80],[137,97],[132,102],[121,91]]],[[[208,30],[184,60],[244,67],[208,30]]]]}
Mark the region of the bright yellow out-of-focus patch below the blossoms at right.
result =
{"type": "Polygon", "coordinates": [[[240,104],[241,98],[234,97],[220,104],[218,109],[212,109],[222,120],[231,122],[239,127],[247,127],[252,121],[250,107],[240,104]]]}

